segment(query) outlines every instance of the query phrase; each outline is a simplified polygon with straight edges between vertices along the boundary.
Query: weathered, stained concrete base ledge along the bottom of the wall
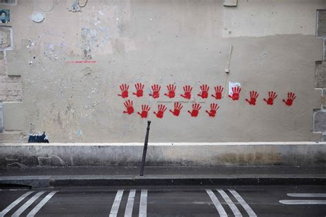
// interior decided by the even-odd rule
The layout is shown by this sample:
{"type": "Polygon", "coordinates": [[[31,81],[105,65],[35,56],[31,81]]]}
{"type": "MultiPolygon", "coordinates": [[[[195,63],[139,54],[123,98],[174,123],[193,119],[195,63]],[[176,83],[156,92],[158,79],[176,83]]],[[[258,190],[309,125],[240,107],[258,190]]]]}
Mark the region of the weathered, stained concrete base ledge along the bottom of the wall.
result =
{"type": "MultiPolygon", "coordinates": [[[[140,165],[142,144],[3,144],[0,167],[140,165]]],[[[146,165],[325,165],[326,143],[149,144],[146,165]]]]}

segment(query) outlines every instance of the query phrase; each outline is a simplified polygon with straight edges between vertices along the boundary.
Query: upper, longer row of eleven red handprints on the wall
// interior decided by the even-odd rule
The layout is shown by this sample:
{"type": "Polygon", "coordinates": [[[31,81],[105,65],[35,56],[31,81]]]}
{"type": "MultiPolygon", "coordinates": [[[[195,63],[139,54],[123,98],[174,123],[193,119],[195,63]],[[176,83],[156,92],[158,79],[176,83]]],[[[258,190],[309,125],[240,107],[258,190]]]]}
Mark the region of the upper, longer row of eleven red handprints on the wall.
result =
{"type": "MultiPolygon", "coordinates": [[[[167,88],[167,93],[164,93],[169,98],[175,98],[175,90],[177,87],[174,84],[169,84],[166,86],[167,88]]],[[[149,93],[151,97],[154,99],[160,98],[160,90],[161,86],[159,84],[153,84],[151,86],[152,93],[149,93]]],[[[190,85],[185,85],[183,87],[184,93],[180,94],[183,98],[190,100],[191,99],[191,91],[193,90],[193,87],[190,85]]],[[[212,94],[212,97],[215,98],[216,100],[221,100],[222,98],[222,93],[224,90],[224,87],[221,86],[216,86],[215,88],[215,94],[212,94]]],[[[129,96],[129,84],[121,84],[120,85],[120,90],[121,94],[118,94],[122,98],[128,98],[129,96]]],[[[135,93],[133,95],[136,95],[138,98],[141,98],[144,94],[144,84],[142,83],[137,83],[135,84],[135,93]]],[[[202,97],[203,99],[208,98],[208,91],[209,87],[207,84],[202,84],[200,86],[200,93],[197,95],[202,97]]],[[[232,100],[239,100],[240,98],[240,92],[241,92],[241,87],[232,87],[232,95],[228,95],[229,98],[232,100]]],[[[250,91],[250,99],[246,99],[246,102],[248,102],[250,105],[255,105],[257,98],[259,96],[259,93],[257,91],[250,91]]],[[[263,99],[268,105],[274,104],[274,100],[277,98],[277,94],[275,91],[269,91],[268,92],[268,99],[266,100],[265,98],[263,99]]],[[[294,99],[296,98],[296,95],[292,92],[287,93],[287,99],[283,100],[283,102],[287,106],[292,106],[294,99]]]]}

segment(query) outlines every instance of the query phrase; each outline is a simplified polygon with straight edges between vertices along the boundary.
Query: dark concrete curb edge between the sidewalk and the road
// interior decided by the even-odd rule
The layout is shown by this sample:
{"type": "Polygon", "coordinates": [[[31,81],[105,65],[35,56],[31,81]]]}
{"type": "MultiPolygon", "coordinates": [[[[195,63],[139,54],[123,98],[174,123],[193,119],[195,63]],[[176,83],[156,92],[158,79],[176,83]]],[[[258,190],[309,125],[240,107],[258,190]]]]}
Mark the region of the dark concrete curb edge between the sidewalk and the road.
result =
{"type": "Polygon", "coordinates": [[[3,176],[1,185],[30,187],[135,185],[326,185],[326,176],[3,176]]]}

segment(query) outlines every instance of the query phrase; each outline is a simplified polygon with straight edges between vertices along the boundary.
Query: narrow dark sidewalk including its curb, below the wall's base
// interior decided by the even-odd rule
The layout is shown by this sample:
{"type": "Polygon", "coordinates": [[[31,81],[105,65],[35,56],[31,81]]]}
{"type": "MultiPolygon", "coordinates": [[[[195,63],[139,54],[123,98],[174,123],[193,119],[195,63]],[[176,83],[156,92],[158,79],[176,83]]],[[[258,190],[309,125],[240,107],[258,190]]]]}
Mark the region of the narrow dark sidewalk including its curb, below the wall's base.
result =
{"type": "Polygon", "coordinates": [[[0,169],[0,186],[326,185],[323,166],[219,165],[0,169]]]}

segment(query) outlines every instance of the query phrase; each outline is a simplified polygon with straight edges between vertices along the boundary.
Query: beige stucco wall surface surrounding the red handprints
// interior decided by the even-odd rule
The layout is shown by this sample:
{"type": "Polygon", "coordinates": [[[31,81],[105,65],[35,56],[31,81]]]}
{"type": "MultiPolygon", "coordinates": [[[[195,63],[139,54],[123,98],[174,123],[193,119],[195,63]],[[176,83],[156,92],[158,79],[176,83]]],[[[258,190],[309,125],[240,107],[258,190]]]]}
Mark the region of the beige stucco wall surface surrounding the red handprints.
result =
{"type": "MultiPolygon", "coordinates": [[[[320,108],[314,89],[315,61],[323,41],[315,36],[316,10],[325,1],[246,1],[226,8],[222,1],[100,1],[81,12],[68,12],[66,1],[18,1],[11,11],[14,50],[7,52],[8,71],[21,73],[23,133],[47,132],[52,142],[141,142],[146,119],[141,104],[151,105],[151,141],[315,141],[313,109],[320,108]],[[30,14],[44,12],[34,23],[30,14]],[[87,32],[88,34],[86,34],[87,32]],[[228,80],[241,83],[239,101],[197,96],[201,84],[223,85],[230,45],[228,80]],[[85,48],[89,47],[90,51],[85,48]],[[76,60],[93,63],[67,63],[76,60]],[[32,61],[32,62],[30,62],[32,61]],[[135,98],[133,84],[145,85],[135,98]],[[169,100],[166,84],[175,82],[177,98],[169,100]],[[124,111],[119,85],[130,84],[135,113],[124,111]],[[161,97],[149,98],[151,84],[161,97]],[[185,84],[193,86],[191,101],[180,98],[185,84]],[[256,106],[245,101],[258,91],[256,106]],[[276,91],[273,106],[263,98],[276,91]],[[292,106],[282,100],[296,93],[292,106]],[[169,109],[182,102],[179,117],[169,109]],[[200,102],[191,117],[191,102],[200,102]],[[208,117],[217,102],[217,116],[208,117]],[[168,110],[153,114],[157,104],[168,110]]],[[[4,119],[10,115],[4,104],[4,119]]],[[[9,119],[9,120],[8,120],[9,119]]],[[[6,126],[5,126],[6,130],[6,126]]]]}

